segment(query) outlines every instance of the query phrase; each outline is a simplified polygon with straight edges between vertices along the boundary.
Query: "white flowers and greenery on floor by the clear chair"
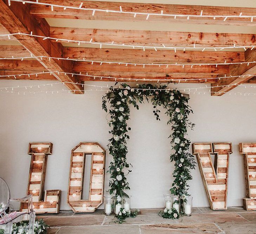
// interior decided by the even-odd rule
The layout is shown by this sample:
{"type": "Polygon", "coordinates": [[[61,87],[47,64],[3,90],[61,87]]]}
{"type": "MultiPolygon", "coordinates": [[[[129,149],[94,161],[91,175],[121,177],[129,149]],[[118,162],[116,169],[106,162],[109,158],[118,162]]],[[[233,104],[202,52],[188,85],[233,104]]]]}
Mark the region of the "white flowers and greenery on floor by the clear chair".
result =
{"type": "MultiPolygon", "coordinates": [[[[27,234],[29,221],[21,221],[14,223],[12,226],[12,234],[27,234]]],[[[42,220],[36,220],[34,225],[34,234],[46,234],[49,226],[42,220]]],[[[0,229],[0,234],[4,234],[5,230],[0,229]]]]}

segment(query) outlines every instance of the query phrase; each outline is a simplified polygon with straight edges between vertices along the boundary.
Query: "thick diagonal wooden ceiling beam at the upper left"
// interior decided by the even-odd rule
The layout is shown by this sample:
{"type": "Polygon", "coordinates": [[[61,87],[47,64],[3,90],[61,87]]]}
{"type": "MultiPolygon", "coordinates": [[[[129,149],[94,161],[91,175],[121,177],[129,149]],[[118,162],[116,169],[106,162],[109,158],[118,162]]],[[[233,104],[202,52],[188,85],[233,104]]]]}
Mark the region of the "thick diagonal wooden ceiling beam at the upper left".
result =
{"type": "MultiPolygon", "coordinates": [[[[21,2],[12,2],[8,6],[8,0],[0,0],[0,24],[10,33],[30,33],[35,35],[48,36],[50,34],[50,26],[46,20],[37,20],[29,13],[29,5],[21,2]]],[[[31,36],[15,35],[15,38],[34,56],[51,56],[61,58],[63,46],[60,43],[53,43],[50,40],[42,40],[41,38],[33,38],[31,36]]],[[[15,56],[16,54],[12,54],[15,56]]],[[[38,61],[49,71],[71,72],[72,62],[68,60],[48,60],[40,59],[38,61]]],[[[54,76],[61,82],[79,82],[64,73],[55,73],[54,76]]],[[[70,90],[78,90],[76,94],[83,93],[81,85],[73,83],[65,83],[70,90]]]]}

